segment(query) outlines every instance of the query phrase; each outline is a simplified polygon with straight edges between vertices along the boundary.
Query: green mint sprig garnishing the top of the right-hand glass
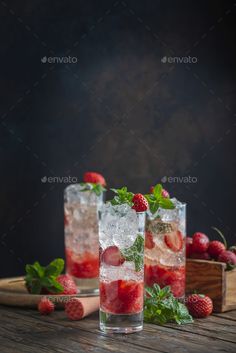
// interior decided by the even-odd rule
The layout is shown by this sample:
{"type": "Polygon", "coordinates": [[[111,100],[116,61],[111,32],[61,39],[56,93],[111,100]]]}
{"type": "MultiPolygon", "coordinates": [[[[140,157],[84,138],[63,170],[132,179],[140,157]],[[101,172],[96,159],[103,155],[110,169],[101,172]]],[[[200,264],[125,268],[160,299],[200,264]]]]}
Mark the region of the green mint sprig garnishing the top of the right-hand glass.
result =
{"type": "Polygon", "coordinates": [[[169,198],[162,196],[163,187],[161,184],[154,186],[153,193],[145,195],[148,200],[151,213],[156,213],[159,207],[164,209],[174,209],[175,205],[169,198]]]}

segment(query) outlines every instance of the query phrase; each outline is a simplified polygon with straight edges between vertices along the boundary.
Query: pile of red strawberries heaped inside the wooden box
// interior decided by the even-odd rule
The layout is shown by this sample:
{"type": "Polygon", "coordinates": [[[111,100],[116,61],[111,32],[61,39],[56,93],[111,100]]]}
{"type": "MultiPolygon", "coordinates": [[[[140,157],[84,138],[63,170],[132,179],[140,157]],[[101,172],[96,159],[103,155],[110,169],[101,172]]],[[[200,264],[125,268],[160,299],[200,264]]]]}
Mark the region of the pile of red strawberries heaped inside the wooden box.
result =
{"type": "Polygon", "coordinates": [[[186,237],[186,256],[198,260],[215,260],[227,264],[227,270],[236,268],[236,247],[228,249],[226,239],[222,232],[212,227],[221,237],[222,241],[210,241],[204,233],[194,233],[193,237],[186,237]]]}

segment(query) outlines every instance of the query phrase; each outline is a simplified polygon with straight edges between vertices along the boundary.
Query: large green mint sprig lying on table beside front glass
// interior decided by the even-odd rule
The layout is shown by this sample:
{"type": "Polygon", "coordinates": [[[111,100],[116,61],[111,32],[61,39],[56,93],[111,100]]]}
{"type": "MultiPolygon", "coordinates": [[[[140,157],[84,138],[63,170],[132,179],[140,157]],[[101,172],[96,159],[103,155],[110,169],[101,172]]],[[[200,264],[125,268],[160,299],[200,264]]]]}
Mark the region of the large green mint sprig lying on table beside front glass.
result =
{"type": "Polygon", "coordinates": [[[193,322],[187,307],[180,303],[171,293],[170,287],[160,288],[154,284],[146,287],[144,299],[144,321],[156,325],[175,322],[179,325],[193,322]]]}

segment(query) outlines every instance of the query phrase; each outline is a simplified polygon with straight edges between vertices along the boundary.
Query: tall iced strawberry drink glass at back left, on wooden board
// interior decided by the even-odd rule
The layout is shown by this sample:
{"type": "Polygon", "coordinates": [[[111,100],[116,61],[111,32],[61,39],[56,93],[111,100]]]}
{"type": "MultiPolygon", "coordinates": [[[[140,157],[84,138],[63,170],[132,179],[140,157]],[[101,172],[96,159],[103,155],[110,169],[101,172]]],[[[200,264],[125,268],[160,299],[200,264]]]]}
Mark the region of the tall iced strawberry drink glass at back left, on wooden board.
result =
{"type": "Polygon", "coordinates": [[[66,272],[81,294],[98,293],[98,207],[104,190],[101,184],[85,182],[64,192],[66,272]]]}

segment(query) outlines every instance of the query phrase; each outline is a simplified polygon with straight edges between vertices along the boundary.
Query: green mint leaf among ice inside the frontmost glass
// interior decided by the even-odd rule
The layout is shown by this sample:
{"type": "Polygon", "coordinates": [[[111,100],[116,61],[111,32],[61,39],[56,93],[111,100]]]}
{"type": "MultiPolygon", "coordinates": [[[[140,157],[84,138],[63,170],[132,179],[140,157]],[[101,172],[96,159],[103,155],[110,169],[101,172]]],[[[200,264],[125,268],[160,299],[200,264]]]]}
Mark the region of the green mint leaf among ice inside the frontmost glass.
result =
{"type": "Polygon", "coordinates": [[[122,255],[126,261],[133,261],[135,265],[135,271],[141,271],[143,267],[143,252],[144,252],[144,239],[139,234],[135,239],[133,245],[129,248],[122,250],[122,255]]]}

